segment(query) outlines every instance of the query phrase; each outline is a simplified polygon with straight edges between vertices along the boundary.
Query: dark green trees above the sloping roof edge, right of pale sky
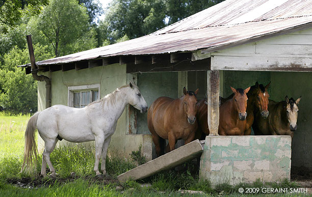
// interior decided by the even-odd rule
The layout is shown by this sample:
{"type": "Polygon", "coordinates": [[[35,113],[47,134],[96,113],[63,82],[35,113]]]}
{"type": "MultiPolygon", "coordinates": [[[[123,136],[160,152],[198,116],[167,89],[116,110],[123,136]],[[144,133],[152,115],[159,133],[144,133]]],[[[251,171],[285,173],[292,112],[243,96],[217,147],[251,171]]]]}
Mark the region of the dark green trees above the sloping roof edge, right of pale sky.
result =
{"type": "MultiPolygon", "coordinates": [[[[138,38],[224,0],[113,0],[106,21],[99,23],[111,43],[127,35],[138,38]]],[[[101,39],[101,37],[100,37],[101,39]]]]}

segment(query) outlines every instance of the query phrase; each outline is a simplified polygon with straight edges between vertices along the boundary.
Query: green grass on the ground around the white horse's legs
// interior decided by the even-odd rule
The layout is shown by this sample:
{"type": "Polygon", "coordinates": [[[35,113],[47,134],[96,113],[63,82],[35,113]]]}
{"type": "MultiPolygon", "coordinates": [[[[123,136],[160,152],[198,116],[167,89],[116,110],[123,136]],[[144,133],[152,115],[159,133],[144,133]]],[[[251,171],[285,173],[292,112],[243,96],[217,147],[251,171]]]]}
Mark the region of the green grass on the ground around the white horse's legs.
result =
{"type": "MultiPolygon", "coordinates": [[[[41,154],[38,156],[36,173],[34,175],[19,174],[23,157],[24,130],[29,115],[10,116],[0,113],[0,196],[180,196],[179,189],[200,190],[214,196],[253,196],[240,194],[240,187],[298,187],[294,182],[287,180],[281,183],[239,184],[231,186],[219,184],[213,187],[210,182],[199,182],[198,171],[191,162],[185,164],[187,170],[178,172],[167,170],[149,178],[119,183],[118,175],[135,167],[132,159],[125,159],[113,152],[107,158],[106,169],[112,177],[106,182],[96,180],[93,171],[94,149],[84,146],[59,147],[51,153],[57,179],[40,178],[41,154]],[[187,167],[188,166],[188,167],[187,167]],[[70,173],[75,172],[76,178],[70,173]],[[18,182],[29,184],[18,185],[18,182]],[[150,183],[151,187],[141,187],[142,183],[150,183]],[[17,186],[18,185],[18,186],[17,186]],[[123,188],[122,193],[116,191],[116,186],[123,188]]],[[[183,196],[202,196],[201,194],[184,194],[183,196]]],[[[268,196],[285,196],[285,194],[269,194],[268,196]]],[[[296,194],[303,196],[303,194],[296,194]]]]}

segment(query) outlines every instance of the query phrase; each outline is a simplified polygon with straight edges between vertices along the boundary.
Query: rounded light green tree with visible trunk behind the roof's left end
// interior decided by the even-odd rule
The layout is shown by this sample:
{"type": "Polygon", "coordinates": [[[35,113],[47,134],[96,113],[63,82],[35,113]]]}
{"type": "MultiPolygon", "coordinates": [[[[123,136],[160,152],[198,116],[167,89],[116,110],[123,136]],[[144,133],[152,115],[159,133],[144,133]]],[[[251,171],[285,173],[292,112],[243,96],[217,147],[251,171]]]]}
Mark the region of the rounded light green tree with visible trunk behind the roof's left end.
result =
{"type": "Polygon", "coordinates": [[[56,57],[96,47],[96,32],[89,23],[87,9],[75,0],[51,0],[30,23],[39,32],[35,40],[43,35],[40,43],[53,47],[56,57]]]}

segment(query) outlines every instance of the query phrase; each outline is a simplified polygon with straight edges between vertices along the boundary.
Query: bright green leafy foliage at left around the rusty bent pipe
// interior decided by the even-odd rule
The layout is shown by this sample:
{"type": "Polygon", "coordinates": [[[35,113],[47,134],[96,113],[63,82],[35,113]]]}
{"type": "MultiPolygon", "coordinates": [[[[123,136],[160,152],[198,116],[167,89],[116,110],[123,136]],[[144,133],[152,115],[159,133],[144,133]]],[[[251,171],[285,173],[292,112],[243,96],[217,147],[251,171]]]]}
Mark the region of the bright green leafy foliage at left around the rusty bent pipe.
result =
{"type": "MultiPolygon", "coordinates": [[[[47,46],[36,44],[34,50],[38,61],[53,57],[47,46]]],[[[28,62],[28,49],[15,46],[4,56],[0,69],[0,106],[13,113],[37,111],[37,81],[17,67],[28,62]]]]}

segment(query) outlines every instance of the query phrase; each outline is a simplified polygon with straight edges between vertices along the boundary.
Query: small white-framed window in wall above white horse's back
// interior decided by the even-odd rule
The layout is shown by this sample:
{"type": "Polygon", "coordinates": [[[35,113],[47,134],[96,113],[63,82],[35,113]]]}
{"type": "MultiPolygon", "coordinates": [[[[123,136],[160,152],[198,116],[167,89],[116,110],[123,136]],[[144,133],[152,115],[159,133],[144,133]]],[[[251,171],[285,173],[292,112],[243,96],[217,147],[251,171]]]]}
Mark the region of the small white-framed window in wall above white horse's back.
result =
{"type": "Polygon", "coordinates": [[[68,106],[83,108],[99,100],[99,84],[68,87],[68,106]]]}

